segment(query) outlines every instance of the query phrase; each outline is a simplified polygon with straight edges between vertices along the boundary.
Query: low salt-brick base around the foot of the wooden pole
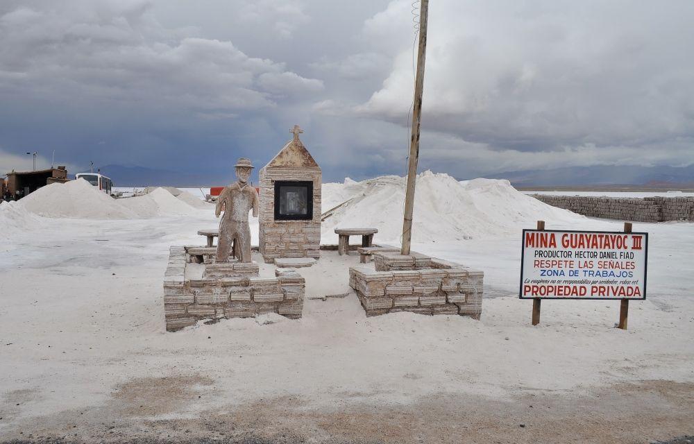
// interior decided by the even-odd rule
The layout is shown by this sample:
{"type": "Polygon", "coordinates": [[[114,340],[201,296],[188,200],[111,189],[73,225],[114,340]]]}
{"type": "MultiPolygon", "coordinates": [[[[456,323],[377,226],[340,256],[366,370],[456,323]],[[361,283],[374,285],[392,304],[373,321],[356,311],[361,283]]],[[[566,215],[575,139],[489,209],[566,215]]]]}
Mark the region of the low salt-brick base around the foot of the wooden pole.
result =
{"type": "Polygon", "coordinates": [[[484,273],[412,253],[373,253],[373,264],[350,268],[352,287],[366,316],[412,311],[480,319],[484,273]]]}

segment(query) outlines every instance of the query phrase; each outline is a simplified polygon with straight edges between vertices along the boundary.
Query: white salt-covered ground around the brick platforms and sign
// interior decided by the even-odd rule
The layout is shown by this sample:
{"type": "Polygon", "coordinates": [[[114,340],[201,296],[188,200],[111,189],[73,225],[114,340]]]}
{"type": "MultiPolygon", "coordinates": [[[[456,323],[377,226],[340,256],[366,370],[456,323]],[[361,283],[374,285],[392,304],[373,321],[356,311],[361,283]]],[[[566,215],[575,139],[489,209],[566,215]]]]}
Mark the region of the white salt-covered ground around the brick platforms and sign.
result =
{"type": "MultiPolygon", "coordinates": [[[[384,217],[379,214],[383,207],[400,210],[401,178],[366,182],[326,184],[325,201],[337,205],[361,189],[355,200],[373,223],[384,217]],[[374,193],[364,196],[366,187],[374,193]],[[374,205],[366,205],[369,201],[374,205]]],[[[53,189],[65,191],[69,185],[53,189]]],[[[455,185],[448,176],[425,173],[418,194],[425,195],[428,187],[440,198],[423,206],[437,214],[418,210],[416,217],[446,219],[450,207],[460,207],[472,213],[471,219],[448,221],[441,225],[446,230],[437,223],[427,226],[429,236],[413,249],[484,270],[481,321],[409,313],[366,318],[353,293],[327,300],[308,297],[342,293],[348,266],[359,261],[357,255],[326,251],[319,264],[299,270],[307,279],[301,320],[266,325],[229,320],[164,334],[161,282],[169,247],[204,244],[196,232],[218,223],[211,207],[185,216],[105,222],[46,218],[20,205],[22,201],[3,203],[0,393],[26,393],[29,398],[9,406],[14,413],[0,423],[0,438],[5,427],[22,418],[112,405],[119,384],[136,378],[156,382],[201,375],[214,380],[214,392],[176,404],[172,417],[278,396],[330,409],[348,403],[393,405],[440,393],[477,393],[515,402],[537,391],[561,395],[643,379],[694,382],[692,223],[634,224],[635,231],[650,232],[648,300],[630,303],[629,330],[613,328],[619,309],[614,300],[545,301],[541,324],[533,327],[532,302],[517,297],[521,229],[533,228],[541,216],[547,228],[559,230],[616,231],[621,223],[555,211],[521,198],[500,181],[455,185]],[[487,225],[484,214],[499,221],[487,225]],[[456,240],[461,231],[472,233],[473,239],[456,240]],[[309,291],[309,286],[317,290],[309,291]]],[[[80,208],[83,194],[67,205],[88,214],[80,208]]],[[[151,201],[158,201],[158,195],[150,196],[151,201]]],[[[103,198],[88,199],[93,205],[118,203],[103,198]]],[[[37,200],[33,205],[37,211],[59,213],[48,203],[38,205],[37,200]]],[[[157,212],[171,211],[167,205],[173,201],[165,198],[157,205],[157,212]]],[[[135,212],[116,208],[121,215],[135,212]]],[[[455,211],[456,217],[466,214],[455,211]]],[[[344,212],[341,219],[326,221],[323,243],[337,241],[330,227],[348,216],[358,220],[358,214],[344,212]]],[[[368,219],[359,225],[364,221],[368,219]]],[[[397,237],[389,223],[398,227],[401,220],[382,222],[375,226],[381,230],[375,241],[387,233],[397,237]]],[[[257,241],[256,219],[251,230],[257,241]]]]}

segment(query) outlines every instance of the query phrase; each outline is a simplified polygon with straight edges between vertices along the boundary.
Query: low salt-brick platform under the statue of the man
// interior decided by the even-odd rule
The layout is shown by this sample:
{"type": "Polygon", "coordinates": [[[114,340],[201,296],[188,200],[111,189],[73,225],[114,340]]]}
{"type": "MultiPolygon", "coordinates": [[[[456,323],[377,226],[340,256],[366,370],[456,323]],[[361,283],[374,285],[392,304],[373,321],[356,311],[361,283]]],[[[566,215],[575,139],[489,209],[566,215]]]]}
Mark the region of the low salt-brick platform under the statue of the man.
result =
{"type": "Polygon", "coordinates": [[[164,273],[164,317],[169,332],[197,321],[219,318],[252,318],[276,313],[301,318],[305,280],[294,268],[275,271],[275,278],[260,278],[254,263],[205,264],[201,279],[185,279],[193,255],[187,247],[169,250],[164,273]]]}

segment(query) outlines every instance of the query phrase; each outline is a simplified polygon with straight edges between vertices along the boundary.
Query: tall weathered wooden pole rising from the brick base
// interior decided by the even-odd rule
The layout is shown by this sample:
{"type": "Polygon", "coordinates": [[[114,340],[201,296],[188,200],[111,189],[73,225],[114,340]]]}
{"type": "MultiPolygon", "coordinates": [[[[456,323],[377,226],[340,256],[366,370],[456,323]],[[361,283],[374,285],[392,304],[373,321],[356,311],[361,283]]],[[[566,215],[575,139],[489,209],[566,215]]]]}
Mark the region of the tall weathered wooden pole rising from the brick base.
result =
{"type": "Polygon", "coordinates": [[[424,88],[424,59],[427,52],[427,17],[429,0],[421,0],[419,8],[419,52],[417,74],[414,80],[414,109],[412,110],[412,133],[409,139],[409,165],[407,169],[407,192],[405,194],[405,222],[403,223],[403,248],[400,253],[409,255],[412,243],[412,213],[414,212],[414,182],[417,180],[419,162],[419,126],[422,114],[422,90],[424,88]]]}

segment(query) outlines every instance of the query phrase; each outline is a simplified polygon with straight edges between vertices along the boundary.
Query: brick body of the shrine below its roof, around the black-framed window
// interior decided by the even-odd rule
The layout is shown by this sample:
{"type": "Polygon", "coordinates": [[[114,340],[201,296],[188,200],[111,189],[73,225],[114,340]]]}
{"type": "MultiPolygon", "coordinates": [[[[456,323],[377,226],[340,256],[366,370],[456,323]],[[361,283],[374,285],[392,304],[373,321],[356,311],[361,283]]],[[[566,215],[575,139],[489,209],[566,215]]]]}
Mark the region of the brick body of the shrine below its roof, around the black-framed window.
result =
{"type": "Polygon", "coordinates": [[[271,264],[277,257],[321,257],[321,169],[264,167],[260,170],[260,253],[271,264]],[[313,181],[313,218],[275,221],[276,180],[313,181]]]}

